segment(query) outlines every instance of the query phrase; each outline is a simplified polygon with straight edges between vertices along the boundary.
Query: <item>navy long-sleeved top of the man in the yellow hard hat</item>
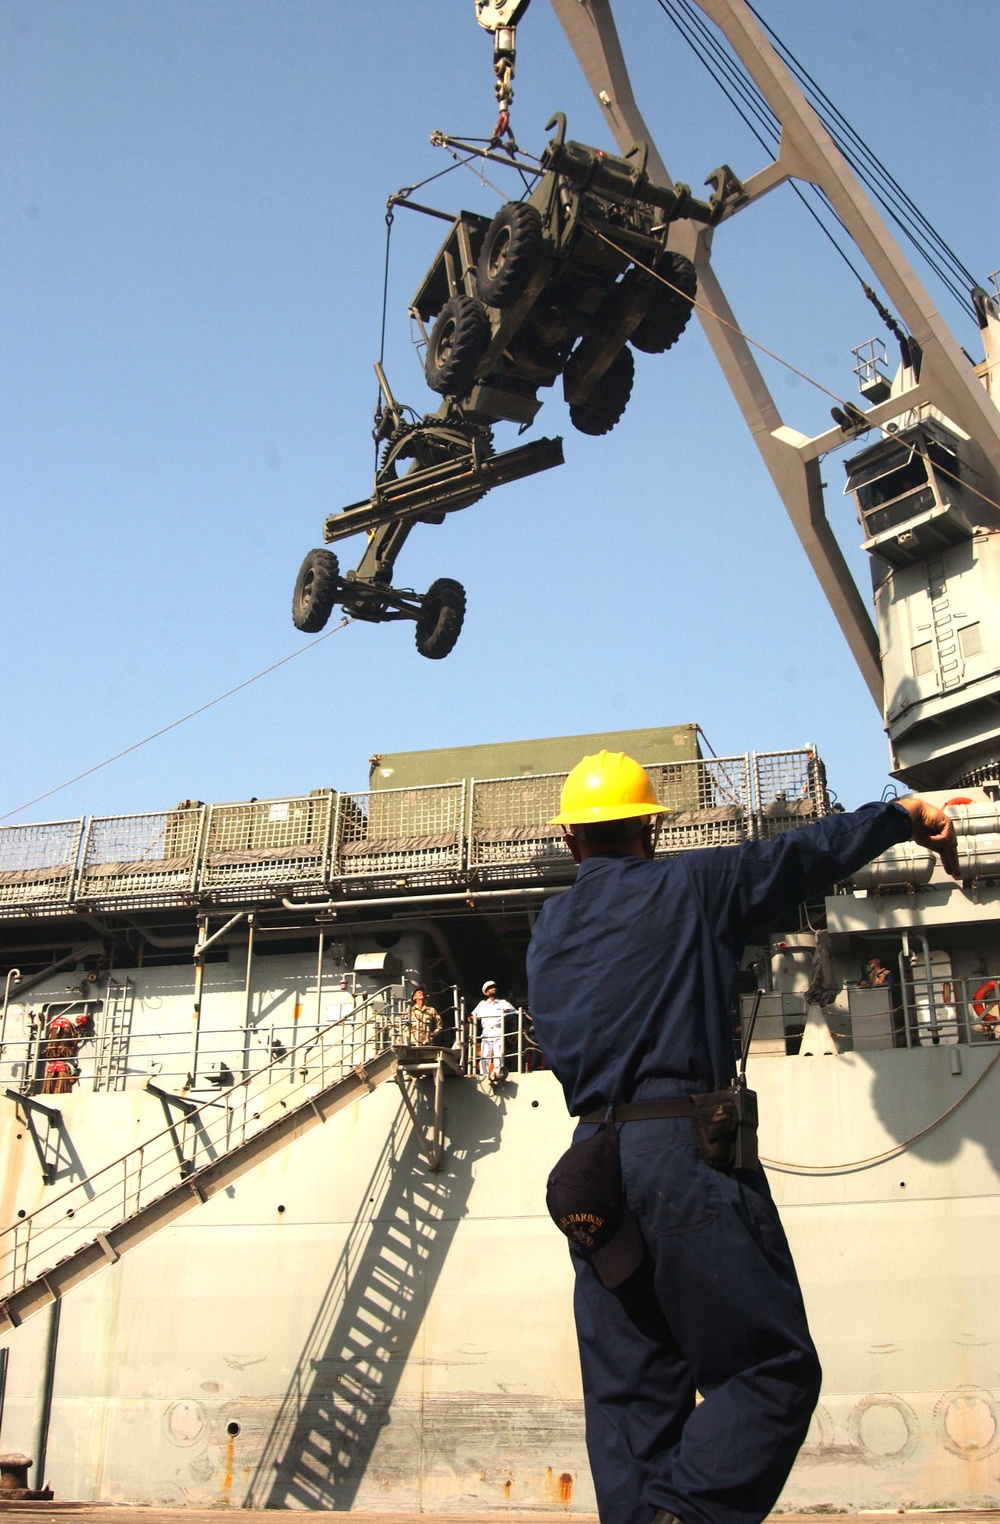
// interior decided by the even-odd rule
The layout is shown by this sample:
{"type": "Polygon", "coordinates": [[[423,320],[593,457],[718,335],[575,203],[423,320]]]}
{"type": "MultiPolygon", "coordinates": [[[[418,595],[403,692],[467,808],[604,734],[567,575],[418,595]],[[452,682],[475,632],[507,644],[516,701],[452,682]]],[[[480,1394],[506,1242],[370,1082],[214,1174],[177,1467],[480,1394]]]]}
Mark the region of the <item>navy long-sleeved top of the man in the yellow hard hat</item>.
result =
{"type": "Polygon", "coordinates": [[[527,949],[535,1032],[570,1113],[630,1100],[649,1079],[726,1085],[752,927],[910,835],[899,805],[863,805],[739,847],[585,858],[573,887],[543,907],[527,949]]]}

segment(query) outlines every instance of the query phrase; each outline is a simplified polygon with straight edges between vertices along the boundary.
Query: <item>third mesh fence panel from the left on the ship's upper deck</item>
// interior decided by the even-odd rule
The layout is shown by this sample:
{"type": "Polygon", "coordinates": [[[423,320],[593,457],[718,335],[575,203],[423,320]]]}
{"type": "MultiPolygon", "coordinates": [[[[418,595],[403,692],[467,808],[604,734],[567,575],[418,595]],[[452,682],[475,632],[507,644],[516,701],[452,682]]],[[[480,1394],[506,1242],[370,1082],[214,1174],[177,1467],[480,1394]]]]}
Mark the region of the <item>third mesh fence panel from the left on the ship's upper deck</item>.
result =
{"type": "Polygon", "coordinates": [[[322,888],[334,818],[334,794],[212,805],[201,888],[224,899],[261,890],[322,888]]]}

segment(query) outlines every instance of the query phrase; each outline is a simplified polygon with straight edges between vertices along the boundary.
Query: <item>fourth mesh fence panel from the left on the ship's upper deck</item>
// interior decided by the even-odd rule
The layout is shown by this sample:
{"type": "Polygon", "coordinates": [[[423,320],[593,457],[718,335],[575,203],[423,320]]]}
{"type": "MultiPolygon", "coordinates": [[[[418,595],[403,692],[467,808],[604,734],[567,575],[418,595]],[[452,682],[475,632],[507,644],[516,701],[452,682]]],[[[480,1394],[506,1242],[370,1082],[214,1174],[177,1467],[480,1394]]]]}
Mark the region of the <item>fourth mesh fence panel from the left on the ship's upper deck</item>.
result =
{"type": "Polygon", "coordinates": [[[419,888],[462,872],[465,785],[341,794],[334,878],[419,888]]]}

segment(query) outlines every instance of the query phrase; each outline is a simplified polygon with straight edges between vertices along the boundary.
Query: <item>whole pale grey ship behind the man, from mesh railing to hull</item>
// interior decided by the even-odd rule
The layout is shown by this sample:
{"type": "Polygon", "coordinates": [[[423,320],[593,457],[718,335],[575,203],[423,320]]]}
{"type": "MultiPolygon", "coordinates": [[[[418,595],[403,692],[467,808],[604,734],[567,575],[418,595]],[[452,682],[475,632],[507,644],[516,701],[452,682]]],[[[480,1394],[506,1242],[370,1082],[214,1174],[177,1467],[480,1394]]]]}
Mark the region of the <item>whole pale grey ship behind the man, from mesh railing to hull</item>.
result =
{"type": "MultiPolygon", "coordinates": [[[[570,881],[546,821],[595,739],[0,832],[5,1442],[58,1495],[593,1506],[544,1213],[570,1123],[523,954],[570,881]],[[486,975],[518,1006],[492,1074],[468,1015],[486,975]],[[413,1041],[418,983],[442,1045],[413,1041]]],[[[663,852],[829,808],[814,748],[701,757],[695,725],[604,739],[646,762],[663,852]]],[[[747,954],[762,1152],[829,1384],[790,1507],[968,1506],[992,1454],[1000,962],[988,840],[957,815],[963,924],[896,849],[747,954]]]]}

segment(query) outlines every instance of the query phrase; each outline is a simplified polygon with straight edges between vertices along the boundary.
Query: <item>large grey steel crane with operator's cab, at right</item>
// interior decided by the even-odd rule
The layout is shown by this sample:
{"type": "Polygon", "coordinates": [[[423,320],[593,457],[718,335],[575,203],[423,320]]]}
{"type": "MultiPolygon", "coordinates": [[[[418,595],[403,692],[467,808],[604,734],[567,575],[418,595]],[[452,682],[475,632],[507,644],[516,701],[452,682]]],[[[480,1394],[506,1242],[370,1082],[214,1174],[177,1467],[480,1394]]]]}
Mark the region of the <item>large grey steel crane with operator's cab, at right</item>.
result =
{"type": "MultiPolygon", "coordinates": [[[[680,219],[671,247],[698,271],[698,317],[861,675],[880,706],[892,771],[913,788],[1000,783],[1000,312],[974,305],[985,360],[968,360],[744,0],[697,0],[780,122],[777,157],[742,181],[727,216],[777,186],[820,187],[887,293],[910,338],[869,407],[835,411],[809,437],[785,422],[712,270],[713,229],[680,219]],[[720,322],[721,320],[721,322],[720,322]],[[823,500],[820,462],[858,434],[880,443],[848,462],[872,559],[872,622],[823,500]],[[916,469],[913,462],[918,462],[916,469]],[[881,483],[881,485],[880,485],[881,483]]],[[[608,0],[552,0],[619,149],[649,145],[652,180],[671,177],[636,104],[608,0]]]]}

